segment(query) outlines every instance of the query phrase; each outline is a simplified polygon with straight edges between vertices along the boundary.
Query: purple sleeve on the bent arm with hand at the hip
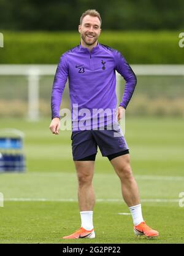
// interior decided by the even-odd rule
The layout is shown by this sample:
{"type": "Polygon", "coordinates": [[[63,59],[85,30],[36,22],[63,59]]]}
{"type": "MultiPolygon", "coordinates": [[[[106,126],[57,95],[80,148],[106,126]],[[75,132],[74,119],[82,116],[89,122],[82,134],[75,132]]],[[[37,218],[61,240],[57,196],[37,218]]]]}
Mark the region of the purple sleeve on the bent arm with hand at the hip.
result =
{"type": "Polygon", "coordinates": [[[118,71],[119,74],[125,79],[125,90],[123,93],[123,98],[121,100],[120,106],[126,107],[134,93],[134,89],[136,87],[137,78],[134,72],[132,71],[129,64],[126,62],[125,58],[121,55],[120,52],[115,53],[115,69],[118,71]]]}

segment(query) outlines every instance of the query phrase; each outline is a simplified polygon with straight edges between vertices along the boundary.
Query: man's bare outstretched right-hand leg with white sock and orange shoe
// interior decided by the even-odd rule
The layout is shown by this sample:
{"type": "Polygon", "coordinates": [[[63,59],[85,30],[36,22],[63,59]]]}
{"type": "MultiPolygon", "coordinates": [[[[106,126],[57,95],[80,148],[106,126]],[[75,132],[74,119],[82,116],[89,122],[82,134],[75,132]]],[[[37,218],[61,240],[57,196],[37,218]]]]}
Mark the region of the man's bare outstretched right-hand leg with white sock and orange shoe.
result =
{"type": "Polygon", "coordinates": [[[110,160],[113,168],[120,177],[121,180],[121,191],[123,199],[129,206],[129,210],[132,214],[134,222],[134,233],[135,235],[145,235],[147,238],[153,238],[158,236],[159,233],[156,230],[148,227],[142,217],[142,209],[139,199],[139,189],[137,182],[132,175],[130,165],[129,153],[120,155],[110,160]]]}

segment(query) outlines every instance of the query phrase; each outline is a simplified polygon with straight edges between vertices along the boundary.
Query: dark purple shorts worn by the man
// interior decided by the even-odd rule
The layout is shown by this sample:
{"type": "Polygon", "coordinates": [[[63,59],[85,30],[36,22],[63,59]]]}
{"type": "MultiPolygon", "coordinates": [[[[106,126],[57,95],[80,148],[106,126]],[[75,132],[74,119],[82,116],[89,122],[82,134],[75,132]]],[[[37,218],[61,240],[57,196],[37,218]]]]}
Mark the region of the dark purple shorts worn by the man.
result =
{"type": "Polygon", "coordinates": [[[129,149],[120,127],[117,130],[73,131],[71,139],[74,161],[96,154],[98,147],[103,157],[129,149]]]}

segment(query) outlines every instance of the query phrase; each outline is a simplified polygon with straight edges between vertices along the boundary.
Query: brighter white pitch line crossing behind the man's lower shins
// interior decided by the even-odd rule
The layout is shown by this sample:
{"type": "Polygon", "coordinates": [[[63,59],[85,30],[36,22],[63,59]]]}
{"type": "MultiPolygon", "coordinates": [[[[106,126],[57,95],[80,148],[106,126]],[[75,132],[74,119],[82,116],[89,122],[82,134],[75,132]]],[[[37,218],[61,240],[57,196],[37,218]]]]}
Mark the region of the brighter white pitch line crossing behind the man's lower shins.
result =
{"type": "MultiPolygon", "coordinates": [[[[49,198],[4,198],[4,201],[38,201],[38,202],[78,202],[77,199],[49,199],[49,198]]],[[[122,202],[121,199],[97,199],[97,202],[122,202]]],[[[142,199],[144,203],[178,203],[179,199],[142,199]]]]}

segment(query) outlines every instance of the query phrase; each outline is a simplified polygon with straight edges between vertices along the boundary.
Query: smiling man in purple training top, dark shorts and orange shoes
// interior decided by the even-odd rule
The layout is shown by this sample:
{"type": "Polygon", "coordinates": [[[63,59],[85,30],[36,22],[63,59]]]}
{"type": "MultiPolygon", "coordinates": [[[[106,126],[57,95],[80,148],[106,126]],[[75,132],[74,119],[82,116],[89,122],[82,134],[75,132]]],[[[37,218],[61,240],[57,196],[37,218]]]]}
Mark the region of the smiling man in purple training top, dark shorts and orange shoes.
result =
{"type": "Polygon", "coordinates": [[[123,198],[134,223],[134,233],[147,238],[158,236],[158,231],[146,225],[142,217],[139,190],[132,176],[129,148],[119,127],[109,125],[120,120],[136,87],[136,76],[120,52],[98,43],[101,16],[96,10],[86,10],[80,18],[80,45],[64,53],[58,64],[52,90],[52,122],[50,130],[59,133],[59,108],[64,86],[69,77],[72,109],[72,154],[79,182],[78,198],[82,225],[64,239],[94,238],[92,185],[97,147],[108,157],[121,180],[123,198]],[[115,95],[115,70],[126,80],[120,106],[115,95]],[[75,111],[87,110],[85,117],[75,111]],[[101,109],[97,114],[94,109],[101,109]],[[110,112],[108,112],[108,111],[110,112]],[[104,114],[98,120],[98,114],[104,114]],[[85,122],[83,122],[85,121],[85,122]],[[103,121],[103,122],[101,122],[103,121]],[[104,128],[104,129],[101,129],[104,128]],[[118,134],[118,136],[115,136],[118,134]]]}

